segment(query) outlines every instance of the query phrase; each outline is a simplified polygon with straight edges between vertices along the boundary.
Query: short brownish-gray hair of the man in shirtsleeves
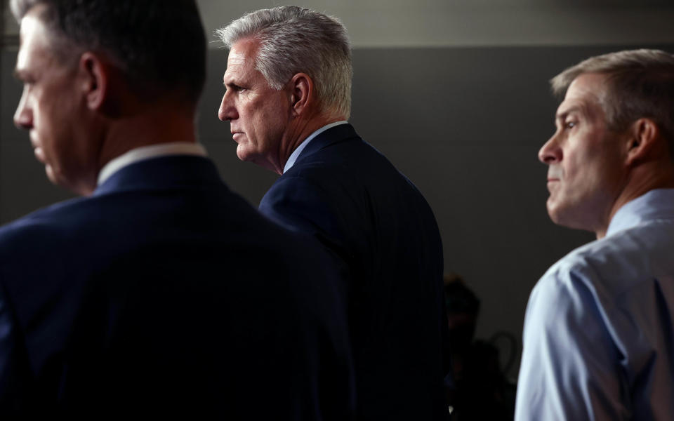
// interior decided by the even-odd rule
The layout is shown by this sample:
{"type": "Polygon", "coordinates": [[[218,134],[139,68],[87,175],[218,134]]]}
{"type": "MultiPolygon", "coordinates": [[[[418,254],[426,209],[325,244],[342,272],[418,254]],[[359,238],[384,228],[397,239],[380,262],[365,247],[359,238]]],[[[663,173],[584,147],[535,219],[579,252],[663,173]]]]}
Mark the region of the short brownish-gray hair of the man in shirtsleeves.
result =
{"type": "Polygon", "coordinates": [[[597,55],[550,79],[553,93],[562,97],[586,73],[606,76],[602,108],[609,129],[623,131],[637,119],[653,119],[674,159],[674,55],[645,49],[597,55]]]}

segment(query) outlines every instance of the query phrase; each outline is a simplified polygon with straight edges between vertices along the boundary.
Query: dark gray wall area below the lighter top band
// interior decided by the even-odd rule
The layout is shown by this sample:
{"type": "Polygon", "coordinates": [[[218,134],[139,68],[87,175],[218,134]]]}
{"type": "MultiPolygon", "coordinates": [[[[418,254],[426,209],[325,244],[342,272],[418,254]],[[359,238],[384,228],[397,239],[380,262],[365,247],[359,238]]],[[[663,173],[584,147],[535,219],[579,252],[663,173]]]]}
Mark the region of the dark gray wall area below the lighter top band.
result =
{"type": "MultiPolygon", "coordinates": [[[[659,47],[674,51],[674,45],[659,47]]],[[[536,153],[553,132],[557,102],[548,93],[550,76],[620,48],[354,51],[350,121],[428,199],[442,232],[446,272],[461,274],[482,299],[479,337],[505,330],[519,341],[538,277],[592,239],[548,220],[546,168],[536,153]]],[[[13,52],[3,53],[0,222],[70,196],[48,183],[26,133],[11,124],[20,96],[11,78],[14,60],[13,52]]],[[[226,62],[226,51],[209,51],[199,138],[225,182],[258,203],[276,175],[239,161],[228,123],[216,117],[226,62]]]]}

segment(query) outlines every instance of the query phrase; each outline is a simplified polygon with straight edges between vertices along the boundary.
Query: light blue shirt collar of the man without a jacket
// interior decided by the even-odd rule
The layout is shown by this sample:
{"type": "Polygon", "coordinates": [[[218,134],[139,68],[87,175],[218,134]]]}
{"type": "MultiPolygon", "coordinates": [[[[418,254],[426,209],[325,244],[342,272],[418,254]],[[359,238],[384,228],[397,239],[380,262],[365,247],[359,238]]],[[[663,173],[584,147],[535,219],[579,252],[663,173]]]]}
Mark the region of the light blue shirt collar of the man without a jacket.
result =
{"type": "Polygon", "coordinates": [[[674,218],[674,189],[654,189],[628,201],[609,223],[606,235],[640,225],[642,222],[674,218]]]}

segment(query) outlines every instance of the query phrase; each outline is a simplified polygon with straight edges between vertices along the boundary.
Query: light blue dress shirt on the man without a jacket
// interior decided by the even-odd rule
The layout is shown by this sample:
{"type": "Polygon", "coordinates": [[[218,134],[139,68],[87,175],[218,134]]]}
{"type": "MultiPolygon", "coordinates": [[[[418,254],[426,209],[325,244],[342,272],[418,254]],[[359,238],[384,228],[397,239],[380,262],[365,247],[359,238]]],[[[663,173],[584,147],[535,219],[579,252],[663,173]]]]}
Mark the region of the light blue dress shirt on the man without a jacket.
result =
{"type": "Polygon", "coordinates": [[[523,340],[515,420],[674,420],[674,189],[550,267],[523,340]]]}

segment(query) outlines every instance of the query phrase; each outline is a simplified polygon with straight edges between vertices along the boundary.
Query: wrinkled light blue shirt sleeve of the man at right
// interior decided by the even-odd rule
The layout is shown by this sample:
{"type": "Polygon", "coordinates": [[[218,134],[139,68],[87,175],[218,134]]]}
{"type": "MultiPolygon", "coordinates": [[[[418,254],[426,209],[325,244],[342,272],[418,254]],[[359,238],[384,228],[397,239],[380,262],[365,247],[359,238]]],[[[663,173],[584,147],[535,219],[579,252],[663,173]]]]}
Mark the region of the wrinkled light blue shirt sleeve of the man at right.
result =
{"type": "Polygon", "coordinates": [[[588,274],[551,268],[531,292],[515,420],[623,420],[617,349],[588,274]]]}

